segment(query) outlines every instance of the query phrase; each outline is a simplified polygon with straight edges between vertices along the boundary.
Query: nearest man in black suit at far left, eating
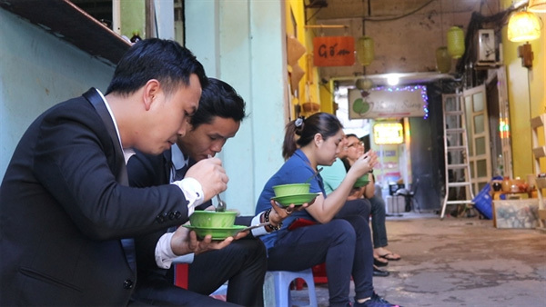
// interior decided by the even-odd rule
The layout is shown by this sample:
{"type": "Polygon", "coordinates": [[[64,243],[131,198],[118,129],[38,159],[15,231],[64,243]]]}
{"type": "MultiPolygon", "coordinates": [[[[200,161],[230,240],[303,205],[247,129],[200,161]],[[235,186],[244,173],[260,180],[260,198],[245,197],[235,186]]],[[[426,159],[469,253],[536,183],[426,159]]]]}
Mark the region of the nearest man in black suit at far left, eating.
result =
{"type": "MultiPolygon", "coordinates": [[[[193,180],[131,188],[124,155],[176,143],[206,84],[186,48],[144,40],[121,59],[106,95],[91,89],[30,125],[0,186],[0,305],[131,302],[135,253],[124,238],[181,223],[226,189],[227,175],[219,159],[207,159],[187,171],[193,180]]],[[[197,241],[180,227],[170,246],[181,255],[233,240],[197,241]]]]}

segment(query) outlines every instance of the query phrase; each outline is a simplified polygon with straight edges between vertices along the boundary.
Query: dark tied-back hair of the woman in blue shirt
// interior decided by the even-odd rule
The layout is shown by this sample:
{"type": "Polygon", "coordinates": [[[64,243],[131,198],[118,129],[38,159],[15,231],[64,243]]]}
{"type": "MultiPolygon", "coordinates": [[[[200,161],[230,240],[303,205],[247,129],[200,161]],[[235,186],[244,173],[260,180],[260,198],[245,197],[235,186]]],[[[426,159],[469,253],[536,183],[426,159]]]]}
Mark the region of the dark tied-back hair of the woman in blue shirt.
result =
{"type": "Polygon", "coordinates": [[[298,117],[286,125],[282,156],[285,160],[288,160],[298,147],[311,143],[315,138],[315,134],[322,135],[326,141],[341,129],[343,129],[343,125],[339,122],[338,117],[332,114],[316,113],[306,119],[298,117]],[[296,135],[299,137],[296,137],[296,135]]]}

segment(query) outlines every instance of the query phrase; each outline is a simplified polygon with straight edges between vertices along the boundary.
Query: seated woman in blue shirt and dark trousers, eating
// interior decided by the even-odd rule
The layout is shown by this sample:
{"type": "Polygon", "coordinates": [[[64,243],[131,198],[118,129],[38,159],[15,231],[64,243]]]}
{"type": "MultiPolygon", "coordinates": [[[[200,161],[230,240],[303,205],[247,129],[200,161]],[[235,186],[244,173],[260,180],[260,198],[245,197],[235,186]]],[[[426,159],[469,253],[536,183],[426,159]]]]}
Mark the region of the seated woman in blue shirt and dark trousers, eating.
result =
{"type": "MultiPolygon", "coordinates": [[[[342,128],[336,116],[326,113],[288,123],[283,144],[287,161],[266,183],[256,212],[270,207],[275,196],[273,186],[304,183],[317,172],[318,165],[331,165],[339,153],[339,143],[346,142],[342,128]]],[[[344,208],[353,184],[376,162],[375,153],[362,155],[328,198],[320,175],[313,177],[309,192],[319,193],[315,202],[288,216],[278,232],[260,237],[268,248],[269,271],[296,272],[326,262],[330,306],[350,305],[351,276],[355,283],[353,306],[393,306],[373,290],[373,252],[368,216],[363,212],[369,207],[344,208]],[[296,223],[310,225],[295,228],[296,223]]]]}

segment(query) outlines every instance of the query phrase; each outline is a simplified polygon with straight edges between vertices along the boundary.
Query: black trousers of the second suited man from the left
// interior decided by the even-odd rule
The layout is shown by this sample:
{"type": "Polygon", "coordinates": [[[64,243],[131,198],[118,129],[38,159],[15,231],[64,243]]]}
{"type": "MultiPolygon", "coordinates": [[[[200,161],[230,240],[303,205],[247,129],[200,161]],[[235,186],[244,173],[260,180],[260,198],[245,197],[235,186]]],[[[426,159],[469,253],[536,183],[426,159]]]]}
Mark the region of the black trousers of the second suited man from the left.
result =
{"type": "Polygon", "coordinates": [[[174,285],[172,274],[150,273],[138,276],[134,297],[154,305],[263,306],[267,269],[264,244],[245,238],[221,250],[196,255],[188,266],[187,290],[174,285]],[[227,302],[208,297],[227,281],[227,302]]]}

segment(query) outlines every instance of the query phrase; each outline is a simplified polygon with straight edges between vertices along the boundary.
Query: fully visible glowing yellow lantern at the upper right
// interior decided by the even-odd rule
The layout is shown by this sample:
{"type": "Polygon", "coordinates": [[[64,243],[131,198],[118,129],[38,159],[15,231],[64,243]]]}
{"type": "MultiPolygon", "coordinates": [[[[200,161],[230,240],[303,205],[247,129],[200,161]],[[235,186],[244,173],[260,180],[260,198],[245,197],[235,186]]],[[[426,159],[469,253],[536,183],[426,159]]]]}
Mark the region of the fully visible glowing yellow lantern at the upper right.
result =
{"type": "Polygon", "coordinates": [[[529,42],[541,37],[541,21],[531,12],[521,11],[508,21],[508,39],[511,42],[529,42]]]}

